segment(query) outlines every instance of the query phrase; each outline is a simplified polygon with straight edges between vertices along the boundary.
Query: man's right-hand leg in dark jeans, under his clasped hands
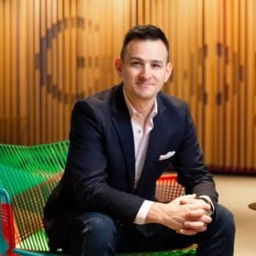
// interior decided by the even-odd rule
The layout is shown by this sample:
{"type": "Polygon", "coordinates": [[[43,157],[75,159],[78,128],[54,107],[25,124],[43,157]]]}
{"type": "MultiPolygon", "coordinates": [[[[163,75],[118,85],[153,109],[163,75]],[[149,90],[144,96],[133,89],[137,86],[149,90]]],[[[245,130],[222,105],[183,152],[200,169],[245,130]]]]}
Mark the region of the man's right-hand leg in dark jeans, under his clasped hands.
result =
{"type": "Polygon", "coordinates": [[[199,256],[232,256],[234,251],[235,225],[228,209],[218,206],[212,223],[205,232],[195,236],[177,234],[164,227],[152,236],[144,237],[136,229],[118,229],[117,251],[165,251],[185,248],[197,243],[199,256]]]}

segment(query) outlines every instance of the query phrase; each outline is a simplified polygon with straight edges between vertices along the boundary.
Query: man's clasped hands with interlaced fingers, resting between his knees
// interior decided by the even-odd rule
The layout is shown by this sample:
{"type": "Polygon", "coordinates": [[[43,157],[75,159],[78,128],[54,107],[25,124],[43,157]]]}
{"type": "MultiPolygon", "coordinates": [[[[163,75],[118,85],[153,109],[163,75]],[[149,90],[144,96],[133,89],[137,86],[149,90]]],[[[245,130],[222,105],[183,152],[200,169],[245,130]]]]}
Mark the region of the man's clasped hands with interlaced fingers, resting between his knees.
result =
{"type": "Polygon", "coordinates": [[[210,205],[195,194],[176,197],[164,204],[155,202],[149,209],[146,222],[155,222],[183,235],[195,235],[207,229],[211,217],[208,216],[210,205]]]}

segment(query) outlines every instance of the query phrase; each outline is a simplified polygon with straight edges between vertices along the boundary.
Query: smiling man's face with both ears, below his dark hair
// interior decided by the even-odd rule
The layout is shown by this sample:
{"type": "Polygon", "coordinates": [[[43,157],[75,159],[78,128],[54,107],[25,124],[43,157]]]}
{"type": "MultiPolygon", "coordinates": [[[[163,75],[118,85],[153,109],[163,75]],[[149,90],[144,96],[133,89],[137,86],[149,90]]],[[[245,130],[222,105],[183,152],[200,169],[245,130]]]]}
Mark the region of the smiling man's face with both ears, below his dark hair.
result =
{"type": "Polygon", "coordinates": [[[132,40],[126,47],[124,58],[116,60],[116,69],[123,80],[124,90],[133,103],[155,101],[172,73],[166,63],[168,53],[161,40],[132,40]]]}

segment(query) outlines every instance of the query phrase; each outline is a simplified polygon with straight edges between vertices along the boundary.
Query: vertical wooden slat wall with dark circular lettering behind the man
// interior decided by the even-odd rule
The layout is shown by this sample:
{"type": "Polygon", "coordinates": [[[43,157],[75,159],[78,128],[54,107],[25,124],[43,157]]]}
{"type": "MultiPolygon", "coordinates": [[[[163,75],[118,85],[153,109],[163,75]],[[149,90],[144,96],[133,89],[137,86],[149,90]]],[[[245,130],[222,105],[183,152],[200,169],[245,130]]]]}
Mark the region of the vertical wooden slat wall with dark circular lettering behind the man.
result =
{"type": "Polygon", "coordinates": [[[0,0],[0,143],[69,137],[75,101],[119,82],[136,24],[171,43],[167,93],[189,102],[212,171],[256,174],[254,0],[0,0]]]}

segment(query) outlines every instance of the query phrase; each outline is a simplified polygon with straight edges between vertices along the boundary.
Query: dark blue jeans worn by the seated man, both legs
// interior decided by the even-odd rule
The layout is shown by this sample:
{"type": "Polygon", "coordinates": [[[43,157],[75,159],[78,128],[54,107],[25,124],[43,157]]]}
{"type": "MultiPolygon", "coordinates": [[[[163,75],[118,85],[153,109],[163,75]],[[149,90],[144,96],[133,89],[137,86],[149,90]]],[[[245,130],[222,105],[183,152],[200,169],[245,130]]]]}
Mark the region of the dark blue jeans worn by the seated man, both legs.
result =
{"type": "Polygon", "coordinates": [[[197,255],[231,256],[234,236],[233,215],[220,205],[208,229],[194,236],[176,234],[163,227],[145,237],[135,228],[127,229],[106,215],[91,212],[74,220],[67,249],[72,255],[105,256],[124,251],[164,251],[197,243],[197,255]]]}

